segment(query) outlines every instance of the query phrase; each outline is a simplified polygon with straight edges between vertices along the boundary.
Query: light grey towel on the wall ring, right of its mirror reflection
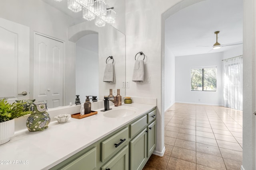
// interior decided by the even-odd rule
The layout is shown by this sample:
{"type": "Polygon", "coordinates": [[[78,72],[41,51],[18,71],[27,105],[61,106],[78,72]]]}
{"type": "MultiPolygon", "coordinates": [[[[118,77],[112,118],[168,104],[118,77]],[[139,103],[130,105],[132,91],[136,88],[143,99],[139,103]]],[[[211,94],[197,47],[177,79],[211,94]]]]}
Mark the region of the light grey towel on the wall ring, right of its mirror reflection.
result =
{"type": "Polygon", "coordinates": [[[136,60],[134,64],[132,81],[140,83],[144,81],[145,77],[145,69],[144,69],[144,61],[136,60]]]}

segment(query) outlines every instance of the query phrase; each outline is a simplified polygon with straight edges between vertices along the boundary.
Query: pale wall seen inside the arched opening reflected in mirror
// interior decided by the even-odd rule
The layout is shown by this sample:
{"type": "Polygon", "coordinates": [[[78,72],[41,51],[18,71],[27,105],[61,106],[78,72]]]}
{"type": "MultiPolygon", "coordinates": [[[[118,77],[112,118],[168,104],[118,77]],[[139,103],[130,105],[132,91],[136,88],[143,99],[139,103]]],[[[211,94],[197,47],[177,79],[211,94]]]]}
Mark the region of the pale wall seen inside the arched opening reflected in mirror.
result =
{"type": "Polygon", "coordinates": [[[76,42],[76,95],[99,97],[98,34],[89,34],[76,42]]]}

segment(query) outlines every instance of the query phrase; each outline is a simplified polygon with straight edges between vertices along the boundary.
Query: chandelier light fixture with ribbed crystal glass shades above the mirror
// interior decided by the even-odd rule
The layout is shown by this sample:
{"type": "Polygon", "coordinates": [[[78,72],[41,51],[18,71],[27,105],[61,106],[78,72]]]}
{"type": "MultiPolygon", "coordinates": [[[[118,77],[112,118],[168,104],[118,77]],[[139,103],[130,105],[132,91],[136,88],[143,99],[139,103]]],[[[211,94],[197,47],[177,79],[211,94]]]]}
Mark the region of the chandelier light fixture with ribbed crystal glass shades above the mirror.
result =
{"type": "MultiPolygon", "coordinates": [[[[55,0],[60,2],[62,0],[55,0]]],[[[107,8],[104,0],[68,0],[68,9],[72,12],[82,11],[82,17],[87,21],[95,20],[95,25],[104,27],[107,23],[116,22],[116,12],[107,8]]]]}

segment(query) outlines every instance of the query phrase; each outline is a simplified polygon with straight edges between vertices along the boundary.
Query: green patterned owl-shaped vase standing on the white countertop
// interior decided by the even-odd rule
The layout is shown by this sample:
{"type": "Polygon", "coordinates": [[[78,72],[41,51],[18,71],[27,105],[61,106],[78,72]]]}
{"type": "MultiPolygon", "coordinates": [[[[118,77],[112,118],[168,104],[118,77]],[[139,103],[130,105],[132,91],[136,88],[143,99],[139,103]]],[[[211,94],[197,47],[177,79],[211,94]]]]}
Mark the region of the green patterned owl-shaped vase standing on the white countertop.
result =
{"type": "Polygon", "coordinates": [[[47,106],[44,103],[33,103],[31,110],[33,113],[27,119],[27,128],[29,131],[43,131],[48,128],[51,121],[49,114],[46,112],[47,106]]]}

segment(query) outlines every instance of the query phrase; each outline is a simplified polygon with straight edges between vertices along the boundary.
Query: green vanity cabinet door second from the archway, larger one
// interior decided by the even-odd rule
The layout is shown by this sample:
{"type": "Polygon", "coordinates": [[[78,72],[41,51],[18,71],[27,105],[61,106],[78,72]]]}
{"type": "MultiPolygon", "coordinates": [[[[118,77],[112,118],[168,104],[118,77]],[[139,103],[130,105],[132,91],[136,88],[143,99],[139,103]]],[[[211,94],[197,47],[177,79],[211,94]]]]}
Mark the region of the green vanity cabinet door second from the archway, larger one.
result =
{"type": "Polygon", "coordinates": [[[147,133],[146,128],[130,141],[130,169],[141,170],[146,164],[147,133]]]}

